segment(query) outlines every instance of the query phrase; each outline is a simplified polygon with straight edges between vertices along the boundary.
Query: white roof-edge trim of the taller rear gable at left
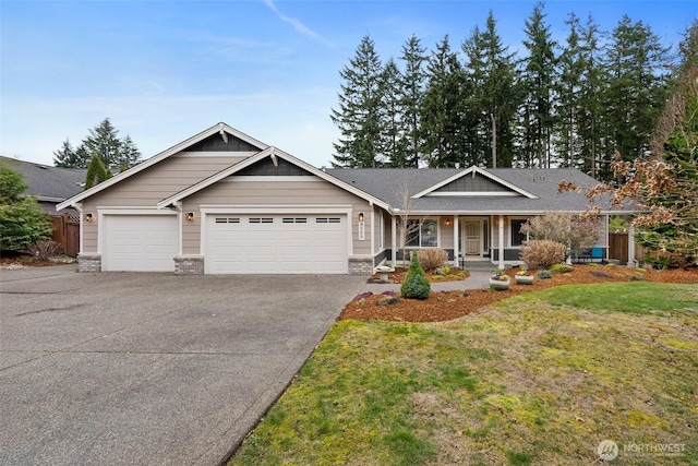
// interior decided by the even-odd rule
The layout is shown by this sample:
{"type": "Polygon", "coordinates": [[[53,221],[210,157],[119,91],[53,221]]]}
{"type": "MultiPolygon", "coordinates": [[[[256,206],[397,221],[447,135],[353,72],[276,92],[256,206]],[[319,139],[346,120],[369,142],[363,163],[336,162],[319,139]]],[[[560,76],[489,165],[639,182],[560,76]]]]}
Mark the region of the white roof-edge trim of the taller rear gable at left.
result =
{"type": "Polygon", "coordinates": [[[267,147],[269,147],[268,144],[265,144],[261,141],[255,140],[254,138],[251,138],[238,130],[236,130],[234,128],[229,127],[226,123],[218,123],[218,124],[214,124],[213,127],[208,128],[207,130],[202,131],[201,133],[180,142],[179,144],[176,144],[173,146],[171,146],[170,148],[160,152],[157,155],[154,155],[153,157],[148,158],[145,162],[142,162],[141,164],[129,168],[128,170],[115,176],[113,178],[109,178],[106,181],[100,182],[99,184],[83,191],[82,193],[74,195],[72,198],[70,198],[69,200],[67,200],[65,202],[61,202],[60,204],[58,204],[56,206],[57,210],[61,210],[61,208],[65,208],[65,207],[70,207],[72,204],[81,202],[83,199],[85,198],[89,198],[93,194],[98,193],[99,191],[103,191],[118,182],[120,182],[121,180],[124,180],[127,178],[130,178],[132,176],[134,176],[137,172],[141,172],[143,170],[145,170],[146,168],[152,167],[153,165],[165,160],[166,158],[184,151],[185,148],[205,140],[206,138],[209,138],[214,134],[219,133],[221,136],[224,136],[224,139],[227,139],[227,135],[230,134],[234,138],[238,138],[255,147],[258,147],[260,151],[263,151],[267,147]]]}

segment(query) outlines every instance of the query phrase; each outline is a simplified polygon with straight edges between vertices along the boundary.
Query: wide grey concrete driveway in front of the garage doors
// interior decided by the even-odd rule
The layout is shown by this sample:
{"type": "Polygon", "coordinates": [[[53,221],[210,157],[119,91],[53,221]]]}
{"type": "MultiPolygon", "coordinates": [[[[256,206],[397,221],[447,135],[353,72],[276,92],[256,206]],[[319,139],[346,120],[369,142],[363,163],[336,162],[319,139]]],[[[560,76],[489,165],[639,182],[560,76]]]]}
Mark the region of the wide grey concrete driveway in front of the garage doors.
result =
{"type": "Polygon", "coordinates": [[[0,464],[218,464],[364,282],[0,271],[0,464]]]}

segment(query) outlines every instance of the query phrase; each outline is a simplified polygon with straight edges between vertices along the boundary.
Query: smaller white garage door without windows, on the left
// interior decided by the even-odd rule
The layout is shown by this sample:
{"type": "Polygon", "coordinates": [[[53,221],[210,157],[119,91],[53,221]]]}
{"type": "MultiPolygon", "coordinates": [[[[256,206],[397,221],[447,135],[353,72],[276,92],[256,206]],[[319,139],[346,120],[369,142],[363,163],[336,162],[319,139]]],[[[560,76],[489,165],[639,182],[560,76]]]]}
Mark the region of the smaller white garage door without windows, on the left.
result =
{"type": "Polygon", "coordinates": [[[105,215],[104,223],[104,271],[174,271],[176,215],[105,215]]]}

